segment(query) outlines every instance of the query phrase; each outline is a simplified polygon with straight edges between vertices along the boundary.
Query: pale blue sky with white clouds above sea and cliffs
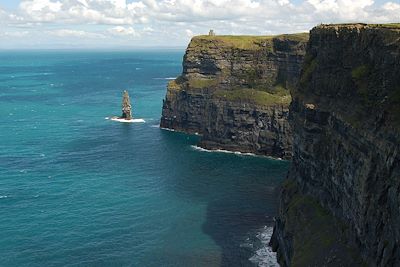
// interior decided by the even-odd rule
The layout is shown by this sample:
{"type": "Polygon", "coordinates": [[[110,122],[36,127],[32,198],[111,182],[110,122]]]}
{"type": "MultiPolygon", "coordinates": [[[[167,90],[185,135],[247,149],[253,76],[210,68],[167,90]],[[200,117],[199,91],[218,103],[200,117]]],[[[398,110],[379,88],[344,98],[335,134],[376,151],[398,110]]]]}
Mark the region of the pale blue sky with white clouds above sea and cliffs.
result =
{"type": "Polygon", "coordinates": [[[0,49],[185,47],[194,35],[272,35],[400,22],[400,0],[0,0],[0,49]]]}

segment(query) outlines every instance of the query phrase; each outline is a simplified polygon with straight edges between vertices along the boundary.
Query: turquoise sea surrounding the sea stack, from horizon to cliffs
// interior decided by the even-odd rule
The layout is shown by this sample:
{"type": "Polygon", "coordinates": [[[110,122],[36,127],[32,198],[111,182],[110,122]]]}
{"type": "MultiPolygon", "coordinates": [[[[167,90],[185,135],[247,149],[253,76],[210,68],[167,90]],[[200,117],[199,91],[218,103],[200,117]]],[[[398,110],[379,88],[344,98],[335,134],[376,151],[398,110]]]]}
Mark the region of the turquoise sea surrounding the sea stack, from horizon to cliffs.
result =
{"type": "Polygon", "coordinates": [[[1,266],[255,264],[288,163],[158,128],[183,52],[0,52],[1,266]]]}

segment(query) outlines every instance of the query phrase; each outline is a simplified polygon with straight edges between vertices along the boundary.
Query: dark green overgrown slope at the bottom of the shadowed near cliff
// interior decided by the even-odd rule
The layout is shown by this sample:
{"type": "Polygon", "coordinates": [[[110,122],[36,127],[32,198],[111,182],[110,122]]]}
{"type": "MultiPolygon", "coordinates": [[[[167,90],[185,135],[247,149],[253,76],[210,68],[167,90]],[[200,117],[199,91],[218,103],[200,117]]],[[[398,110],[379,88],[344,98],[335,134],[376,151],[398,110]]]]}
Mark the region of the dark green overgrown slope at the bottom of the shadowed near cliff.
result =
{"type": "MultiPolygon", "coordinates": [[[[314,198],[301,194],[297,183],[288,180],[285,194],[291,197],[286,213],[287,231],[293,233],[291,266],[322,266],[329,259],[349,266],[363,266],[360,255],[346,245],[347,226],[314,198]]],[[[335,266],[335,262],[331,262],[335,266]]]]}

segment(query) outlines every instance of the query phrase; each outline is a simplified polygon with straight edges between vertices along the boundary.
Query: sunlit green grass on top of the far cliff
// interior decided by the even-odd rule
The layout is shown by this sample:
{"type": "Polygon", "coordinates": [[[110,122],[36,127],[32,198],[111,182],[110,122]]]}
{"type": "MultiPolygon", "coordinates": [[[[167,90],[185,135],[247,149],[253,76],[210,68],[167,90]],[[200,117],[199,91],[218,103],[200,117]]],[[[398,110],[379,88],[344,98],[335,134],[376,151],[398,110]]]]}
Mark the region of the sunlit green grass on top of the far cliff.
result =
{"type": "Polygon", "coordinates": [[[217,43],[221,47],[230,47],[238,49],[257,49],[263,46],[270,46],[274,38],[278,39],[289,39],[299,42],[308,41],[308,33],[296,33],[296,34],[282,34],[282,35],[271,35],[271,36],[252,36],[252,35],[200,35],[195,36],[192,39],[192,45],[204,45],[210,42],[217,43]]]}

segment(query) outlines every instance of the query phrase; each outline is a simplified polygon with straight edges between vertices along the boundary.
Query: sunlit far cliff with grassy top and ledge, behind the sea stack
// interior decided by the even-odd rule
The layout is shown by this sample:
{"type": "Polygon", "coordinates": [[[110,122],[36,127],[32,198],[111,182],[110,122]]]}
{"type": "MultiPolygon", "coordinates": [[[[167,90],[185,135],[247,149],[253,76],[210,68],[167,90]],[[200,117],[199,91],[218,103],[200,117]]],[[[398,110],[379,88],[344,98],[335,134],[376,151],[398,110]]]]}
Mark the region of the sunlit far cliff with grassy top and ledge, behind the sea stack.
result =
{"type": "Polygon", "coordinates": [[[161,127],[198,133],[200,146],[290,158],[289,89],[308,34],[198,36],[168,85],[161,127]]]}

